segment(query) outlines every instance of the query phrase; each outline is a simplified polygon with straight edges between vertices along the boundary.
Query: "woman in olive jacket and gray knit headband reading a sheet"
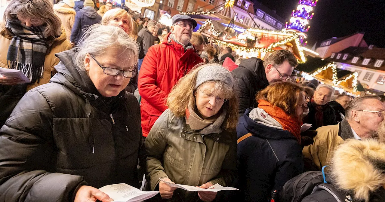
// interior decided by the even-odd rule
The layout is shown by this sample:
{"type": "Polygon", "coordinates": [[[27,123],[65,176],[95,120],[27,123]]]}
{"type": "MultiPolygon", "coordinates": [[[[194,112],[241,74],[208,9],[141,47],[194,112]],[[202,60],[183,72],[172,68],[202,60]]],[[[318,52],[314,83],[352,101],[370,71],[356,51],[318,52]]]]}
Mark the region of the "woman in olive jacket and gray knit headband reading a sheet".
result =
{"type": "MultiPolygon", "coordinates": [[[[208,188],[229,186],[236,173],[238,103],[233,76],[209,63],[191,70],[167,97],[167,109],[146,138],[147,177],[151,190],[171,201],[213,201],[215,192],[187,192],[165,180],[208,188]]],[[[159,197],[160,198],[160,197],[159,197]]],[[[154,198],[154,201],[162,201],[154,198]]]]}

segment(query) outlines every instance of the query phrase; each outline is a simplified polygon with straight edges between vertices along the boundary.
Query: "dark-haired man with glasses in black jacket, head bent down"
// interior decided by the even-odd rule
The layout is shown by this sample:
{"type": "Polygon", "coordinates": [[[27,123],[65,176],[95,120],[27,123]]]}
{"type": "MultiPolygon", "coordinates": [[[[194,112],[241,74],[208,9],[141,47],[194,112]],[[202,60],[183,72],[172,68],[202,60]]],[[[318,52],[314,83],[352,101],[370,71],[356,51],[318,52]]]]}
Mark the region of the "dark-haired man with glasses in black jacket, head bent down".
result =
{"type": "Polygon", "coordinates": [[[288,50],[277,50],[264,61],[252,57],[243,60],[239,67],[233,70],[236,80],[235,90],[238,91],[239,117],[246,109],[257,107],[255,95],[269,84],[281,81],[291,81],[291,74],[298,62],[288,50]]]}

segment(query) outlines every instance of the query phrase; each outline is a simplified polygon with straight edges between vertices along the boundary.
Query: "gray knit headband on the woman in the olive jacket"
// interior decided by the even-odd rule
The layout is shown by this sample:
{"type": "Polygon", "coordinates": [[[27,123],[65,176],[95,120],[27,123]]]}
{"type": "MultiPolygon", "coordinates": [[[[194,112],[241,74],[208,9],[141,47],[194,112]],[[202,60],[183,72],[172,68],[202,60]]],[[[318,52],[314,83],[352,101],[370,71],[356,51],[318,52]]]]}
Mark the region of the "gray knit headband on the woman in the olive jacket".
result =
{"type": "Polygon", "coordinates": [[[215,63],[208,64],[206,67],[203,67],[198,71],[195,89],[198,88],[202,83],[208,81],[221,81],[229,85],[231,88],[234,85],[234,78],[233,75],[231,75],[231,72],[229,72],[229,70],[225,69],[221,65],[215,63]]]}

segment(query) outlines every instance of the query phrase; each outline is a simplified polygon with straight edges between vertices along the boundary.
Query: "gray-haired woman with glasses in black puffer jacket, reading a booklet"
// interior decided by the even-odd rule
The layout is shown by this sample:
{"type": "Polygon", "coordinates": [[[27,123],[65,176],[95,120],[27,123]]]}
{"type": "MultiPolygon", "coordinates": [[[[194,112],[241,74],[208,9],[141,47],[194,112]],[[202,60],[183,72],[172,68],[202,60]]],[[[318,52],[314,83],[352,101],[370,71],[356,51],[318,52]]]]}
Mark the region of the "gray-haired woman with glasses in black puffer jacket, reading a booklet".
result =
{"type": "Polygon", "coordinates": [[[58,73],[28,91],[0,130],[1,201],[110,202],[97,188],[138,187],[140,108],[125,90],[137,43],[93,25],[74,49],[56,54],[58,73]]]}

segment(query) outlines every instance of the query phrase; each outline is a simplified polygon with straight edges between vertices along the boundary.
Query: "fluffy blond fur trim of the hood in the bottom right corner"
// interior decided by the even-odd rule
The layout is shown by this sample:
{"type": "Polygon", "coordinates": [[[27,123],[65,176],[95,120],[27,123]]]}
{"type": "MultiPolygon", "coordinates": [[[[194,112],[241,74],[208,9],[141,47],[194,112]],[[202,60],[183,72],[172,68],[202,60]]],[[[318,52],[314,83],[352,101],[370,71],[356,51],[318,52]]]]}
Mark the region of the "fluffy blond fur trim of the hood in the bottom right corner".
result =
{"type": "Polygon", "coordinates": [[[354,201],[369,202],[370,194],[385,185],[385,144],[376,140],[345,140],[335,150],[329,174],[354,201]]]}

